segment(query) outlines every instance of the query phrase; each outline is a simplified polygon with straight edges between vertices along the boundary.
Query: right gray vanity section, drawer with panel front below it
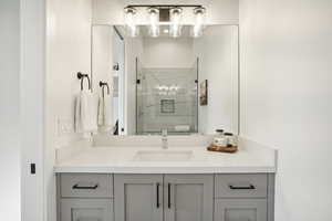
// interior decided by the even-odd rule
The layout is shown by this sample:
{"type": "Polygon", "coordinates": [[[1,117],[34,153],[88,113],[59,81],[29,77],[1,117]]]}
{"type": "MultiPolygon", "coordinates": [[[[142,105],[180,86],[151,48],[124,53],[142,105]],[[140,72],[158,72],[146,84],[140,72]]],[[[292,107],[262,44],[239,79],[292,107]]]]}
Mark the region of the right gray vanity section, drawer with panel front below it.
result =
{"type": "Polygon", "coordinates": [[[273,221],[273,175],[216,175],[215,221],[273,221]]]}

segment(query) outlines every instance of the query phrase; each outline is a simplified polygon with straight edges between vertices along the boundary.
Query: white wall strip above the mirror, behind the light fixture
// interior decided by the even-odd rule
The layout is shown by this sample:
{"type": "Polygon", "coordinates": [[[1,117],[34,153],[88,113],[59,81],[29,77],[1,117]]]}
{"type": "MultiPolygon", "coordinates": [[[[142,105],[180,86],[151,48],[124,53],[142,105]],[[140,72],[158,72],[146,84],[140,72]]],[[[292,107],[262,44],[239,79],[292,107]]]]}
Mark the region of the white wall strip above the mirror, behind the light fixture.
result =
{"type": "MultiPolygon", "coordinates": [[[[93,3],[93,23],[103,24],[123,24],[123,9],[128,4],[203,4],[206,7],[207,22],[209,24],[237,24],[239,17],[238,0],[94,0],[93,3]]],[[[137,17],[141,24],[147,23],[145,9],[137,17]]],[[[187,24],[194,22],[190,8],[184,9],[183,21],[187,24]]]]}

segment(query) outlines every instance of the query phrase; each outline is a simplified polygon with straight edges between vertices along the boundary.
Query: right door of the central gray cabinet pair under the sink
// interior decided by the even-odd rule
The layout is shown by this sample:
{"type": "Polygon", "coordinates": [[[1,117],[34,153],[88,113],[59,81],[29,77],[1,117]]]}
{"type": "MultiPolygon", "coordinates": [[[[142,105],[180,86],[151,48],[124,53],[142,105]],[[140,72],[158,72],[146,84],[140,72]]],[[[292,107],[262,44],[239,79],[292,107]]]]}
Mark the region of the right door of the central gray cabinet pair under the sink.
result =
{"type": "Polygon", "coordinates": [[[212,221],[212,175],[165,175],[165,221],[212,221]]]}

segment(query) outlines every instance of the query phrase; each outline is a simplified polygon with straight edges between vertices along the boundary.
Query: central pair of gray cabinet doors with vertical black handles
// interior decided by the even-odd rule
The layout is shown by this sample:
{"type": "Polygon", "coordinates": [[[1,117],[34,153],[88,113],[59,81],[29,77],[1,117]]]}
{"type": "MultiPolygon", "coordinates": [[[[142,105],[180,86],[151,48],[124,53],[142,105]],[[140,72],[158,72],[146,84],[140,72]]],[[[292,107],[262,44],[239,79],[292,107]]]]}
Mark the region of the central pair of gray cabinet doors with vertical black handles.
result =
{"type": "Polygon", "coordinates": [[[114,175],[115,221],[212,221],[212,175],[114,175]]]}

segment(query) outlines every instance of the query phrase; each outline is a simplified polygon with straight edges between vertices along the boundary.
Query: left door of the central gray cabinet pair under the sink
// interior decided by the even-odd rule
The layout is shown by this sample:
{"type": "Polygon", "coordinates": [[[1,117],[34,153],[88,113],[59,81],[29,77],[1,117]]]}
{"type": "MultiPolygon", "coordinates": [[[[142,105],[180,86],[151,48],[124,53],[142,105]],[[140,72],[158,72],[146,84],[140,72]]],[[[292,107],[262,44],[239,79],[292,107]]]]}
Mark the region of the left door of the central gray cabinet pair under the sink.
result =
{"type": "Polygon", "coordinates": [[[116,221],[163,221],[162,175],[115,175],[116,221]]]}

